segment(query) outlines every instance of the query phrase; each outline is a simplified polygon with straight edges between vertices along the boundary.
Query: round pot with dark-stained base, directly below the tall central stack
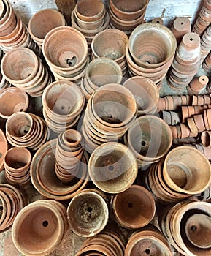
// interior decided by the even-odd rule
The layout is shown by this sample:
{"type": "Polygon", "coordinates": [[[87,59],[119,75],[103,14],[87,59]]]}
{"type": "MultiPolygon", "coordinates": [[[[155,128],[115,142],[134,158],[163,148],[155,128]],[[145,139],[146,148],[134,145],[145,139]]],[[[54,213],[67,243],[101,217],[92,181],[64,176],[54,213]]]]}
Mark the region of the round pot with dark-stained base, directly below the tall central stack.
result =
{"type": "Polygon", "coordinates": [[[102,191],[120,193],[131,187],[137,177],[137,161],[123,144],[104,143],[91,154],[88,173],[102,191]]]}

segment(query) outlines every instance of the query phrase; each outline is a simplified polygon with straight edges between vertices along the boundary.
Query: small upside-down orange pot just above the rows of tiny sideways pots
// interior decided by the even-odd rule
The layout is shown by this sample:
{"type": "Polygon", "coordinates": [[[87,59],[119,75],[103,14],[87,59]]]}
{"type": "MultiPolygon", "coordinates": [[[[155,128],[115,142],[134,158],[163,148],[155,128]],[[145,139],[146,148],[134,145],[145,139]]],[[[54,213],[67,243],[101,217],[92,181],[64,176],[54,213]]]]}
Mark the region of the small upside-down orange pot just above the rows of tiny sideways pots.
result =
{"type": "Polygon", "coordinates": [[[209,78],[207,75],[201,75],[200,77],[193,78],[191,83],[187,86],[189,94],[200,94],[207,87],[209,78]]]}

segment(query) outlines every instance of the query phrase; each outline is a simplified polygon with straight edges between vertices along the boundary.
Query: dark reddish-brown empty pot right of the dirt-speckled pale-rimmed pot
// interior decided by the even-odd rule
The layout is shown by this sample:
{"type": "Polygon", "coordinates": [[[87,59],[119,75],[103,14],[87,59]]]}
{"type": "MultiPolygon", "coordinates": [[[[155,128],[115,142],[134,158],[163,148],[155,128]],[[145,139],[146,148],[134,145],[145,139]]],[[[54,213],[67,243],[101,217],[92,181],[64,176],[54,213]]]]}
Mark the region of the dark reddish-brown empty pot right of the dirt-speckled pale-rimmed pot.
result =
{"type": "Polygon", "coordinates": [[[156,204],[147,189],[132,185],[126,191],[115,195],[112,211],[122,227],[136,229],[146,226],[153,219],[156,204]]]}

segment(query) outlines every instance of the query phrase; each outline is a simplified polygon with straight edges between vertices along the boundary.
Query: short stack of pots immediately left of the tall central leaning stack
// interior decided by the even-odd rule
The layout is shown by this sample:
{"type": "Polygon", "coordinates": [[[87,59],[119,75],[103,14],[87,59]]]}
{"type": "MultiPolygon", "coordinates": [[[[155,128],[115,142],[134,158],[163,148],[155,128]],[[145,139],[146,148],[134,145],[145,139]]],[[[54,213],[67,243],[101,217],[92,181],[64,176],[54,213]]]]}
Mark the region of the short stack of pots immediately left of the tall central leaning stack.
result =
{"type": "Polygon", "coordinates": [[[43,116],[47,126],[57,133],[77,124],[84,104],[83,91],[67,80],[50,83],[42,94],[43,116]]]}

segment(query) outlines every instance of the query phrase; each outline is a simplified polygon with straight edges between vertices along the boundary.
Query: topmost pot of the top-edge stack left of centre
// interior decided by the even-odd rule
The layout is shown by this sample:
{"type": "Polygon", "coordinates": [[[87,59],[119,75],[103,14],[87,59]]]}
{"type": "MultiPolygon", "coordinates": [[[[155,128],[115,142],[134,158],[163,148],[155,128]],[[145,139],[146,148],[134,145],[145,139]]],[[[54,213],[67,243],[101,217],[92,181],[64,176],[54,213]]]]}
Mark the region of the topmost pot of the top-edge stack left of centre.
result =
{"type": "Polygon", "coordinates": [[[104,4],[101,0],[80,0],[75,6],[75,12],[80,20],[96,21],[104,14],[104,4]],[[93,8],[89,8],[89,7],[93,8]]]}

